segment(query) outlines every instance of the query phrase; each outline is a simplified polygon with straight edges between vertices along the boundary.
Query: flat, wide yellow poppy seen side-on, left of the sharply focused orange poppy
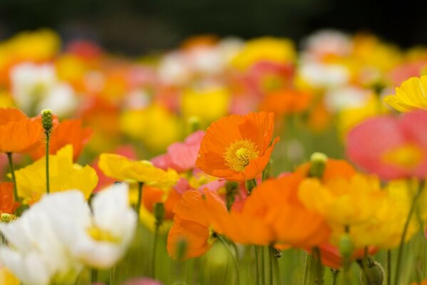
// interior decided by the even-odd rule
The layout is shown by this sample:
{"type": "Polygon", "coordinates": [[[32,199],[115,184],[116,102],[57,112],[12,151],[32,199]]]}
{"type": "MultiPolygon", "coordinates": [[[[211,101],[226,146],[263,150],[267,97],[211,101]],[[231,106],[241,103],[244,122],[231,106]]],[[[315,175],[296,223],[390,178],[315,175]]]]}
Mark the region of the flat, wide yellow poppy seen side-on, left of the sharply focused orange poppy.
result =
{"type": "Polygon", "coordinates": [[[146,185],[167,189],[178,181],[175,170],[161,170],[148,160],[130,160],[122,155],[103,153],[99,168],[105,175],[127,182],[143,182],[146,185]]]}

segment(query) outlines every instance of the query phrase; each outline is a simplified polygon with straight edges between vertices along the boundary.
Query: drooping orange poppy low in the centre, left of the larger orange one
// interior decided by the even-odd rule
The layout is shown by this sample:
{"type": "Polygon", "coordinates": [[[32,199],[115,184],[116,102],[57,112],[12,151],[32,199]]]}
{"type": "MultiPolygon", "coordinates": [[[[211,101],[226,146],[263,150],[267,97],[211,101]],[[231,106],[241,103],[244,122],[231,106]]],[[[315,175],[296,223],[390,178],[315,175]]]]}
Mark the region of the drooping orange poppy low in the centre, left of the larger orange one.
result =
{"type": "Polygon", "coordinates": [[[227,208],[216,192],[205,190],[205,199],[201,192],[190,190],[182,195],[175,206],[173,226],[168,234],[168,253],[178,258],[178,244],[184,241],[186,251],[182,259],[199,257],[205,254],[215,240],[211,231],[212,217],[225,217],[227,208]],[[211,195],[215,193],[215,195],[211,195]]]}

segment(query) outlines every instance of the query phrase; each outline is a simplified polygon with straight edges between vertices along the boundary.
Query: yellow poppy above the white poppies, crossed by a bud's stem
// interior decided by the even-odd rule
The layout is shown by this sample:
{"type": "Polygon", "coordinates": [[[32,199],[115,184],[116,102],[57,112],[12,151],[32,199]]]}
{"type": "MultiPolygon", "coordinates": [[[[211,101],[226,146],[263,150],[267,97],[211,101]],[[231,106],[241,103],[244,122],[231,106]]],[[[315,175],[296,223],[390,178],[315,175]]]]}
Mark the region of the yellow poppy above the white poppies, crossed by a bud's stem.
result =
{"type": "MultiPolygon", "coordinates": [[[[51,192],[79,189],[86,199],[96,187],[98,177],[92,167],[73,164],[73,147],[66,145],[49,157],[51,192]]],[[[36,202],[46,192],[45,158],[15,172],[18,195],[26,202],[36,202]]]]}

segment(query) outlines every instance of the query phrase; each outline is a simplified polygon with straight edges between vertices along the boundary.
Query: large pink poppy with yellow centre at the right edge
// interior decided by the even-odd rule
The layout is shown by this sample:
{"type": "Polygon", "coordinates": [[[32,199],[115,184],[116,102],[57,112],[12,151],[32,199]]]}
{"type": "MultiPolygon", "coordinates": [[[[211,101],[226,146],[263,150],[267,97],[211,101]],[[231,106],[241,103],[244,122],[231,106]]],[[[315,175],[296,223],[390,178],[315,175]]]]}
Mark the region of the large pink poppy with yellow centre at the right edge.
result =
{"type": "Polygon", "coordinates": [[[427,111],[365,120],[347,135],[346,155],[383,180],[427,175],[427,111]]]}

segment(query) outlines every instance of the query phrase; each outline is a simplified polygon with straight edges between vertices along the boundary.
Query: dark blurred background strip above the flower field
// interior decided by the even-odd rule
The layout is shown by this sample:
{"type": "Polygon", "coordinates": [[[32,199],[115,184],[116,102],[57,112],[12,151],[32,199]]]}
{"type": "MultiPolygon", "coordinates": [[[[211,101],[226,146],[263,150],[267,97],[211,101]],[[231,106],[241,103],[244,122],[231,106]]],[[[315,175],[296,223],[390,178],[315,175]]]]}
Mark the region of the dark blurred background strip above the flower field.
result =
{"type": "Polygon", "coordinates": [[[408,47],[427,44],[427,0],[0,0],[0,38],[42,27],[123,54],[201,33],[299,41],[319,28],[369,31],[408,47]]]}

